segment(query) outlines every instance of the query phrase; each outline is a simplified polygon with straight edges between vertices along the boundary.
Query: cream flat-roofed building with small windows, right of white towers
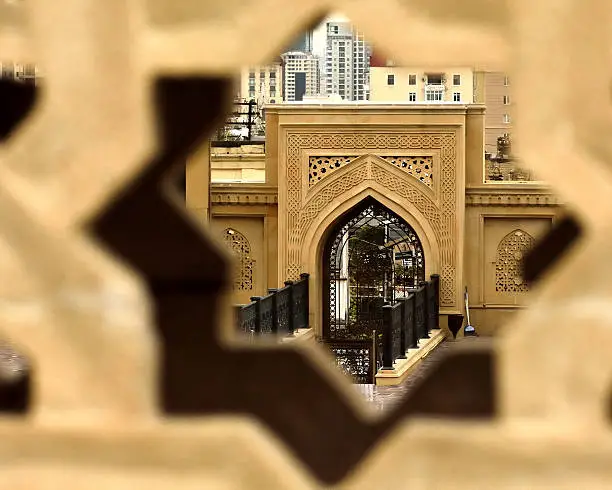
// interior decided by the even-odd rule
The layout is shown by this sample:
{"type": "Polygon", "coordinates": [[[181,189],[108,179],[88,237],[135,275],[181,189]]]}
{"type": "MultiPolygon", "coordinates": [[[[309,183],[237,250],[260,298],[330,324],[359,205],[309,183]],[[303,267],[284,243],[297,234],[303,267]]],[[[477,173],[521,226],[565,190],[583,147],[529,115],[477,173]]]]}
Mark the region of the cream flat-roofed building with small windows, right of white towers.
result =
{"type": "Polygon", "coordinates": [[[446,76],[444,101],[452,102],[453,93],[461,94],[462,104],[474,102],[474,75],[471,68],[438,68],[386,66],[370,68],[370,100],[373,102],[408,102],[409,93],[416,93],[416,102],[425,101],[426,73],[443,73],[446,76]],[[395,84],[388,85],[388,75],[395,75],[395,84]],[[409,85],[409,75],[416,75],[416,85],[409,85]],[[453,85],[453,75],[461,76],[461,84],[453,85]]]}

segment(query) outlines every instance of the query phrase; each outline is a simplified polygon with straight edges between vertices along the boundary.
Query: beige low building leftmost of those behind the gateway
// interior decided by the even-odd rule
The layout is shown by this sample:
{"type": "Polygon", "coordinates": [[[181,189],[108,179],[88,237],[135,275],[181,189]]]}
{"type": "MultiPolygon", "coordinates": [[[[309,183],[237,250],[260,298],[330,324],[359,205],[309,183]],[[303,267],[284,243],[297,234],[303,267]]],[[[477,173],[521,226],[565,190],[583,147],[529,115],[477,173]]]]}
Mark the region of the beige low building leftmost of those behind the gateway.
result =
{"type": "Polygon", "coordinates": [[[261,104],[275,104],[283,100],[282,90],[283,68],[280,60],[242,70],[239,98],[261,104]]]}

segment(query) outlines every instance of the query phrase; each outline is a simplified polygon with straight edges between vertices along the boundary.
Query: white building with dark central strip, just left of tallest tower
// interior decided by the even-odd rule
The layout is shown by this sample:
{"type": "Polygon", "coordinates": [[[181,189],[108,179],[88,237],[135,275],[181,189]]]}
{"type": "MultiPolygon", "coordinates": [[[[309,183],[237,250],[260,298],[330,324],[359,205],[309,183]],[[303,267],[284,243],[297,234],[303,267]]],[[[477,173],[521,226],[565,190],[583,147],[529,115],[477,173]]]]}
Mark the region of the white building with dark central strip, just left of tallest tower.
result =
{"type": "Polygon", "coordinates": [[[282,55],[285,102],[301,101],[320,93],[319,58],[312,53],[289,51],[282,55]]]}

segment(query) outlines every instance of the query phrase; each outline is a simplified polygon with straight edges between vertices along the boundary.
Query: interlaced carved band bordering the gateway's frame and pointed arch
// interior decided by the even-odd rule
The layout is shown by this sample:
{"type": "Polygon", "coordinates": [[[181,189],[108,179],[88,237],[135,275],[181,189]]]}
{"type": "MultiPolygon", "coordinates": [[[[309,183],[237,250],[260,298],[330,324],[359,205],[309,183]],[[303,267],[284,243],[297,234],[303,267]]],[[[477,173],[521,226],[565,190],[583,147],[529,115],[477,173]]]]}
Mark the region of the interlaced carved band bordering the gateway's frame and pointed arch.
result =
{"type": "MultiPolygon", "coordinates": [[[[288,250],[285,275],[296,279],[301,272],[303,239],[315,216],[334,198],[346,190],[363,182],[366,178],[378,182],[391,192],[397,192],[408,199],[425,216],[434,229],[440,244],[440,301],[441,305],[455,305],[456,254],[454,250],[454,232],[456,222],[456,137],[453,131],[419,132],[419,133],[288,133],[287,148],[287,230],[288,250]],[[302,152],[305,150],[361,150],[364,154],[378,153],[376,150],[439,150],[440,151],[440,200],[434,202],[427,197],[426,190],[421,192],[407,179],[396,178],[383,167],[377,165],[359,166],[355,171],[345,174],[339,180],[330,180],[304,202],[302,192],[302,152]]],[[[416,186],[420,184],[416,183],[416,186]]]]}

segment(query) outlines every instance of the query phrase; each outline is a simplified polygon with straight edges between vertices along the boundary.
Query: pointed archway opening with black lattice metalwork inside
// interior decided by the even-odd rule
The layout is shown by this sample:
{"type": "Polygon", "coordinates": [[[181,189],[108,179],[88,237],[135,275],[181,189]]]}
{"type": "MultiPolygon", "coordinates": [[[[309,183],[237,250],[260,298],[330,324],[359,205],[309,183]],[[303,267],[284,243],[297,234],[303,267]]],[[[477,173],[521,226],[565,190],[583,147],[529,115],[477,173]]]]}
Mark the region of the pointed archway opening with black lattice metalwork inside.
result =
{"type": "Polygon", "coordinates": [[[376,371],[382,307],[425,280],[414,229],[372,197],[341,216],[323,249],[323,340],[358,381],[376,371]],[[366,358],[367,357],[367,358],[366,358]]]}

